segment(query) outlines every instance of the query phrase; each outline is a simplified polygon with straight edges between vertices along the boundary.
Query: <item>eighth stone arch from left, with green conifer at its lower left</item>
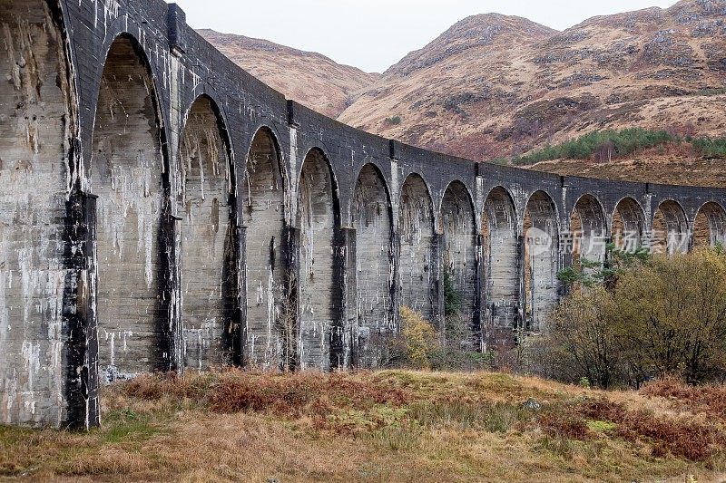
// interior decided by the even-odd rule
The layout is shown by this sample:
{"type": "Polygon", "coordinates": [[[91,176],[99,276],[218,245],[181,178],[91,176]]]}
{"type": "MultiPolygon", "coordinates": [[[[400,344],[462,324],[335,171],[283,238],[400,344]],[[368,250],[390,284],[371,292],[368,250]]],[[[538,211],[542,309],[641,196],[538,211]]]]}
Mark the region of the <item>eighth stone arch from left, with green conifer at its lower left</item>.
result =
{"type": "MultiPolygon", "coordinates": [[[[445,297],[448,291],[460,299],[457,316],[452,307],[445,312],[457,325],[456,337],[462,348],[478,350],[479,327],[476,308],[476,219],[474,203],[466,185],[453,181],[441,201],[442,266],[445,297]]],[[[454,336],[454,335],[452,335],[454,336]]]]}

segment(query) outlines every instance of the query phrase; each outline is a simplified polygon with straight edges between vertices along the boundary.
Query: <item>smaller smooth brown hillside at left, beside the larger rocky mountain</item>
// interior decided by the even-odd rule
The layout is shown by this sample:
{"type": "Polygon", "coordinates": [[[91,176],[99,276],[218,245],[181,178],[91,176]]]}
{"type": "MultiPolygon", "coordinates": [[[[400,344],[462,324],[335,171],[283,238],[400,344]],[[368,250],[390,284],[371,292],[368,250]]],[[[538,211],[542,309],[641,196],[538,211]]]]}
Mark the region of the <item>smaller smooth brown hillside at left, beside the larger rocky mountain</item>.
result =
{"type": "Polygon", "coordinates": [[[378,79],[378,74],[340,65],[319,53],[213,30],[199,33],[262,82],[332,118],[355,101],[358,91],[378,79]]]}

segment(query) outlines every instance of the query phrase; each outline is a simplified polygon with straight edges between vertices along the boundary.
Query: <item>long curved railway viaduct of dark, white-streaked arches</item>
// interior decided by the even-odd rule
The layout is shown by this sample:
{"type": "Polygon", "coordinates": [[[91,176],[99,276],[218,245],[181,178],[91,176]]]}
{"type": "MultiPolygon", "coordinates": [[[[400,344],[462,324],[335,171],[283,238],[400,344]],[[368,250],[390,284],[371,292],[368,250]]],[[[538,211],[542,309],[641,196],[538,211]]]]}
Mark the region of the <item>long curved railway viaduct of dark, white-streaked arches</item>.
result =
{"type": "Polygon", "coordinates": [[[0,36],[0,423],[93,426],[99,387],[141,372],[375,367],[400,306],[441,328],[445,275],[485,350],[541,330],[606,239],[726,241],[721,189],[355,130],[161,0],[0,0],[0,36]]]}

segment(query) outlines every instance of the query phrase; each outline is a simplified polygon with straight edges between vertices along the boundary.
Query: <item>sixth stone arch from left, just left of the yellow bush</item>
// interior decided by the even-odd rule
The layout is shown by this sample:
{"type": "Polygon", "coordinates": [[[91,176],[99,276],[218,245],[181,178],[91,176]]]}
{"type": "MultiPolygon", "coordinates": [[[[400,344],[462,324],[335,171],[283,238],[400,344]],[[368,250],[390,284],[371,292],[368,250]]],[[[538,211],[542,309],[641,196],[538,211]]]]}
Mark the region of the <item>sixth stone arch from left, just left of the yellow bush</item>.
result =
{"type": "Polygon", "coordinates": [[[390,336],[397,332],[392,291],[394,265],[388,187],[378,167],[360,170],[352,200],[356,229],[357,326],[354,365],[381,365],[390,336]]]}

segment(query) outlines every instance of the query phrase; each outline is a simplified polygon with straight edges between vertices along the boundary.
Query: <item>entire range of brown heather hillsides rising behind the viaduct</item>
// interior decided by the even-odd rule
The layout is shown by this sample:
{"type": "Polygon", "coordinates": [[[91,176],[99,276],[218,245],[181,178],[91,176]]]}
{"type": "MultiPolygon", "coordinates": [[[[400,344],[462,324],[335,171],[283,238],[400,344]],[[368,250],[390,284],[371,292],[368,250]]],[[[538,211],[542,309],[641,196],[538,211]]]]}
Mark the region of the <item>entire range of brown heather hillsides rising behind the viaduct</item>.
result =
{"type": "MultiPolygon", "coordinates": [[[[468,159],[512,157],[592,130],[726,135],[726,0],[594,17],[564,32],[520,17],[475,15],[382,75],[267,41],[201,34],[291,99],[468,159]]],[[[726,187],[721,164],[667,148],[534,169],[726,187]]]]}

